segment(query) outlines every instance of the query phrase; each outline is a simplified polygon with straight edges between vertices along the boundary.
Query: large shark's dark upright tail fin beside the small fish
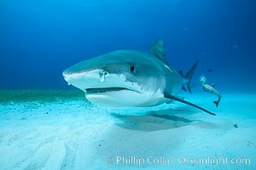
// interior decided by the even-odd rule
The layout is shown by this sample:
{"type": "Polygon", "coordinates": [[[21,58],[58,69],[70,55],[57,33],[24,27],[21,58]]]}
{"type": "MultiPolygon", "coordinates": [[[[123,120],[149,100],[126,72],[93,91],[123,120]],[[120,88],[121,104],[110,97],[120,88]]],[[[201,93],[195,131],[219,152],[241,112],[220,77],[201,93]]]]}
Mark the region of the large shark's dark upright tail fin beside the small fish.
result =
{"type": "Polygon", "coordinates": [[[179,71],[179,74],[181,75],[181,77],[183,77],[183,80],[184,80],[182,89],[184,91],[189,91],[189,93],[191,93],[190,82],[191,82],[191,79],[194,75],[194,72],[195,72],[196,66],[198,64],[198,61],[199,61],[199,59],[197,59],[195,61],[195,64],[189,69],[189,71],[187,72],[186,75],[183,75],[183,71],[179,71]]]}

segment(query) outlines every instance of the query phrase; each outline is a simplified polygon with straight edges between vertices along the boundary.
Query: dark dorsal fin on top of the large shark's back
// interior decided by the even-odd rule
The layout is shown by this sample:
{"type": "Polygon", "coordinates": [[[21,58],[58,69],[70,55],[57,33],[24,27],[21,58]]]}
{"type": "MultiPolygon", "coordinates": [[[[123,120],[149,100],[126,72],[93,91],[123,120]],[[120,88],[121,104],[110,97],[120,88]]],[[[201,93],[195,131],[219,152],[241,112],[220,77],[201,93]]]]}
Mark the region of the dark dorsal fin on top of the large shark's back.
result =
{"type": "Polygon", "coordinates": [[[165,43],[162,40],[156,40],[151,45],[149,53],[167,63],[165,43]]]}

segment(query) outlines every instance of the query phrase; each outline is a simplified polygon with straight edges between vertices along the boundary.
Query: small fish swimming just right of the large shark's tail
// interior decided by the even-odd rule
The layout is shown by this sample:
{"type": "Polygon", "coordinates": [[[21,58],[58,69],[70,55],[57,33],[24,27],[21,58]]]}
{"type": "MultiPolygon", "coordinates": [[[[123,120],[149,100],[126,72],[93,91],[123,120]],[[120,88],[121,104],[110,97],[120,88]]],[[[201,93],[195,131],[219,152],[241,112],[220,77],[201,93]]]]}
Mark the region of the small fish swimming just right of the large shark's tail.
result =
{"type": "Polygon", "coordinates": [[[218,92],[218,90],[215,88],[215,86],[217,85],[216,83],[215,84],[207,84],[207,78],[204,77],[204,76],[201,76],[200,77],[200,82],[202,82],[201,84],[201,88],[205,91],[205,92],[208,92],[210,94],[215,94],[218,96],[218,100],[216,101],[213,101],[213,103],[216,105],[216,107],[218,107],[218,104],[219,104],[219,101],[221,99],[221,94],[218,92]]]}

